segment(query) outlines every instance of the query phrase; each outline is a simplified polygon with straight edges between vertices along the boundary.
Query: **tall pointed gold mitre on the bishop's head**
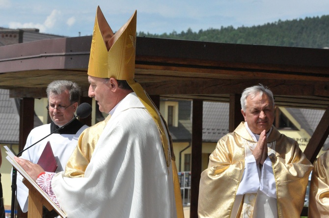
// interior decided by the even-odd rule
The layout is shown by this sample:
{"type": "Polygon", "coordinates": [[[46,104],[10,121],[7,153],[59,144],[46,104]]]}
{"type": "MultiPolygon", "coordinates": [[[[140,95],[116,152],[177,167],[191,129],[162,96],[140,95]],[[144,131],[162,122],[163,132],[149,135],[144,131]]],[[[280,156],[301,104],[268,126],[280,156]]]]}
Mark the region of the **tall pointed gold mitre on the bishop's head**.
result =
{"type": "Polygon", "coordinates": [[[88,75],[116,80],[135,76],[137,11],[113,34],[101,8],[97,7],[92,35],[88,75]]]}

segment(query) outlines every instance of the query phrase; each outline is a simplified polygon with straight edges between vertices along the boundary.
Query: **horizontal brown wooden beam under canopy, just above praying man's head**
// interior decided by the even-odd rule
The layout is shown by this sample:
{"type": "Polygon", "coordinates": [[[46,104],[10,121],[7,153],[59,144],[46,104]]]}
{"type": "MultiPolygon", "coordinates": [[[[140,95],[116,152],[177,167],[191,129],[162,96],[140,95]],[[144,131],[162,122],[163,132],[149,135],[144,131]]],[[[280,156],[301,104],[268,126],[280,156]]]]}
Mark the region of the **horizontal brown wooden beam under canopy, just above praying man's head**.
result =
{"type": "MultiPolygon", "coordinates": [[[[283,77],[284,78],[284,77],[283,77]]],[[[150,95],[218,95],[241,94],[249,86],[262,83],[268,86],[275,95],[279,96],[313,96],[329,97],[328,82],[310,82],[289,80],[223,80],[223,79],[173,79],[162,82],[140,82],[150,95]],[[317,87],[317,88],[315,88],[317,87]]],[[[328,98],[327,98],[327,101],[328,98]]]]}

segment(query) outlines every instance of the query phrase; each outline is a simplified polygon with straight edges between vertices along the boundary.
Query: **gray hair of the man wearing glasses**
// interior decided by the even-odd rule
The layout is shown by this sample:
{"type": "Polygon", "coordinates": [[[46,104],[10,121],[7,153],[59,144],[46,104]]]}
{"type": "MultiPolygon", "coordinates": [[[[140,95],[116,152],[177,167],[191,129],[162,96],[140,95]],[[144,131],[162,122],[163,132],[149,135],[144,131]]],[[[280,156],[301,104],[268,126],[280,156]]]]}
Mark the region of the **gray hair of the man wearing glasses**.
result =
{"type": "Polygon", "coordinates": [[[49,83],[47,87],[47,98],[49,100],[50,94],[60,95],[65,90],[69,91],[70,102],[75,103],[80,100],[80,87],[77,83],[67,80],[56,80],[49,83]]]}

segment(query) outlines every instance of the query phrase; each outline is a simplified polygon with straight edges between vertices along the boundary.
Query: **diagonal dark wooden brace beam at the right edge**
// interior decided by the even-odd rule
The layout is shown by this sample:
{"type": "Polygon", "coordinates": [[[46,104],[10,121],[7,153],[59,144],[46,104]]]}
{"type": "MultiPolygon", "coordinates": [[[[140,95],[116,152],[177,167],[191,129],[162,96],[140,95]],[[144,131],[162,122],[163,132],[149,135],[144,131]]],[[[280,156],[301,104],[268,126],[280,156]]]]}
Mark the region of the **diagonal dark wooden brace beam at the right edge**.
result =
{"type": "Polygon", "coordinates": [[[323,114],[318,126],[316,127],[313,135],[304,150],[307,159],[313,163],[316,160],[323,144],[329,135],[329,106],[323,114]]]}

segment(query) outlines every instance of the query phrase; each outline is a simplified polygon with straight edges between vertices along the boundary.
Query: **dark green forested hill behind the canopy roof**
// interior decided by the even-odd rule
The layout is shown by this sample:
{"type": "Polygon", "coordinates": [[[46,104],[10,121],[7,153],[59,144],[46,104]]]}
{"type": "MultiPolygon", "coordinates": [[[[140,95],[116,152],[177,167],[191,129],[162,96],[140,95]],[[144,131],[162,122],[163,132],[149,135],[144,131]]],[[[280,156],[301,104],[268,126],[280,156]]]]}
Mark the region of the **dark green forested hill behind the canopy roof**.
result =
{"type": "Polygon", "coordinates": [[[325,48],[329,47],[329,15],[291,21],[279,20],[253,27],[229,26],[220,29],[200,29],[198,32],[193,32],[191,28],[186,32],[173,31],[169,34],[139,32],[137,36],[233,44],[325,48]]]}

